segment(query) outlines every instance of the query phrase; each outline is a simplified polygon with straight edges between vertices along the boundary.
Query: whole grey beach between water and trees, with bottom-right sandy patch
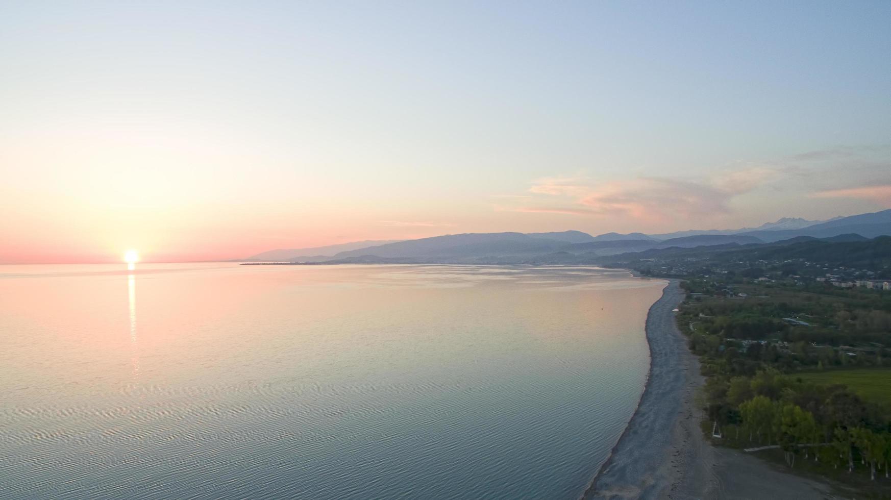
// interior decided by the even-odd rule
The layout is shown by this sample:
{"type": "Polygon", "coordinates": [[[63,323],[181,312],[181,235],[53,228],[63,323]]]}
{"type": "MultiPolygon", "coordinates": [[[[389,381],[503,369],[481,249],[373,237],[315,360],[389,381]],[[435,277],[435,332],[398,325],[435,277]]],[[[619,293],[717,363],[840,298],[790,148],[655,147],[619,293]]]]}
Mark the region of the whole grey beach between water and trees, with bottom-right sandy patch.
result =
{"type": "Polygon", "coordinates": [[[713,447],[694,402],[704,379],[674,323],[683,299],[669,280],[647,316],[650,376],[634,416],[585,499],[835,498],[828,485],[774,469],[755,456],[713,447]]]}

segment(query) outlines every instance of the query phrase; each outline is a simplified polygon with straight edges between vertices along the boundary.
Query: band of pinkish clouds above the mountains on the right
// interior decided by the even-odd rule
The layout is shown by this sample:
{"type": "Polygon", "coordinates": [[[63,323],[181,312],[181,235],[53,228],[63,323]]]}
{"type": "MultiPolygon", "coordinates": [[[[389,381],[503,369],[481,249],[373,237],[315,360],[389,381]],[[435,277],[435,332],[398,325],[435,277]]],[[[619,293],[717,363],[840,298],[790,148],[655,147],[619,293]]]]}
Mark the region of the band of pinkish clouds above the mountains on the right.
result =
{"type": "Polygon", "coordinates": [[[827,217],[891,207],[891,147],[838,146],[736,161],[694,175],[536,179],[496,210],[601,220],[610,227],[752,224],[762,217],[827,217]],[[814,198],[825,201],[815,202],[814,198]],[[830,200],[838,200],[829,203],[830,200]]]}

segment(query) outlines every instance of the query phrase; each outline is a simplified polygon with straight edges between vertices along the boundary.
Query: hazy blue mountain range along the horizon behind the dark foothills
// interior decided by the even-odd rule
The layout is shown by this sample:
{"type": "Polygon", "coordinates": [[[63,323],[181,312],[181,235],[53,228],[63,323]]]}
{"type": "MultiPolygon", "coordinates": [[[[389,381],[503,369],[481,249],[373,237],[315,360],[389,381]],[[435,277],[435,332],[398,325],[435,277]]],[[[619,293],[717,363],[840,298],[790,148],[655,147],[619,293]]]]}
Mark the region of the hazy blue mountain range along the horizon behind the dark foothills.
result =
{"type": "Polygon", "coordinates": [[[672,248],[724,247],[835,238],[846,241],[891,234],[891,209],[828,221],[783,217],[755,228],[681,231],[669,234],[593,236],[581,231],[554,233],[445,234],[417,240],[354,242],[327,247],[270,250],[253,262],[330,263],[597,263],[604,257],[672,248]],[[793,240],[794,241],[794,240],[793,240]]]}

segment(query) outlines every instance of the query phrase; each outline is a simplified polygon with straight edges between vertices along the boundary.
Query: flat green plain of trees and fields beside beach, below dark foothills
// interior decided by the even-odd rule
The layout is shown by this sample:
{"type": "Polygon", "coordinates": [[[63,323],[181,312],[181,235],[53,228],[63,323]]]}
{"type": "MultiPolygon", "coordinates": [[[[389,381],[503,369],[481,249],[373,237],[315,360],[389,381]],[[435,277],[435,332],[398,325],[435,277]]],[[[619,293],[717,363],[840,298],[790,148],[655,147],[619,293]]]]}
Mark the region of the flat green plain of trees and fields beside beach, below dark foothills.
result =
{"type": "Polygon", "coordinates": [[[682,286],[677,321],[708,376],[704,405],[721,443],[891,485],[891,293],[738,273],[682,286]]]}

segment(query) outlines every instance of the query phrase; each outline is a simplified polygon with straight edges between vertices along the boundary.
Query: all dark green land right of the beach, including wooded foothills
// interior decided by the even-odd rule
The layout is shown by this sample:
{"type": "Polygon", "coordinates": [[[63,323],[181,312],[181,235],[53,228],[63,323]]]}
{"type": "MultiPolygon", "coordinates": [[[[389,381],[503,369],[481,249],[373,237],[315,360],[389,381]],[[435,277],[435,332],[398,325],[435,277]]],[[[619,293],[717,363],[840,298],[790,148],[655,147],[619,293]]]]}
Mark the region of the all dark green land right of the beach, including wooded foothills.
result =
{"type": "Polygon", "coordinates": [[[889,497],[891,291],[853,283],[891,275],[889,249],[891,238],[670,249],[624,265],[683,277],[677,322],[707,375],[717,442],[889,497]]]}

